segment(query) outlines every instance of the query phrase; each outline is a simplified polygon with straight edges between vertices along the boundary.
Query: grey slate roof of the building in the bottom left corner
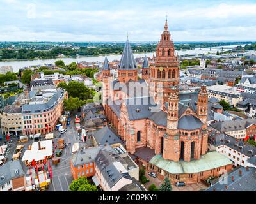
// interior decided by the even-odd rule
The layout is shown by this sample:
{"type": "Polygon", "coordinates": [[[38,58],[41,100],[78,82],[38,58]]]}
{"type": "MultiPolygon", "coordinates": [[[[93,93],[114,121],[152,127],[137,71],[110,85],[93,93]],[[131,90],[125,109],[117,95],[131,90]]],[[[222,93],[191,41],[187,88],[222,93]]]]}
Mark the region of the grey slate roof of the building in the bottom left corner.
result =
{"type": "Polygon", "coordinates": [[[19,178],[24,175],[25,172],[20,160],[8,161],[8,163],[5,163],[0,167],[0,186],[6,184],[12,179],[19,178]],[[15,173],[15,170],[17,170],[18,173],[15,173]],[[2,176],[4,179],[1,179],[2,176]]]}

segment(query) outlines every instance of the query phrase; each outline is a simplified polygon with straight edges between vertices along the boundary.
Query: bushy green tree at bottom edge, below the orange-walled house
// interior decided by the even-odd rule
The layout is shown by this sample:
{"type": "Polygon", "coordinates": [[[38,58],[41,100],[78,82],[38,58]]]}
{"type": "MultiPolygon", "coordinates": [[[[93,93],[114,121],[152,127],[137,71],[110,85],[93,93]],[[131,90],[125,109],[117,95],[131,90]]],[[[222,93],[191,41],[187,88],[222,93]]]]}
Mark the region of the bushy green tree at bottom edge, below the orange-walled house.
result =
{"type": "Polygon", "coordinates": [[[97,187],[90,184],[86,177],[73,180],[69,186],[70,191],[97,191],[97,187]]]}

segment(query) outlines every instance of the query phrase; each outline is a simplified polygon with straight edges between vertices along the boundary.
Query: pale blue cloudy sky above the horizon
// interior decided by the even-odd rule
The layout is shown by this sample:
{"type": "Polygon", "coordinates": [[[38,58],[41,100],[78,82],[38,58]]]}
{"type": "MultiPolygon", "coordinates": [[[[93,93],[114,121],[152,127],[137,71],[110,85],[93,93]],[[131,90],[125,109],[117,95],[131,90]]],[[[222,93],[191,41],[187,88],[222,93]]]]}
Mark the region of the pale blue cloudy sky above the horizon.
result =
{"type": "Polygon", "coordinates": [[[256,41],[256,0],[0,0],[0,41],[256,41]]]}

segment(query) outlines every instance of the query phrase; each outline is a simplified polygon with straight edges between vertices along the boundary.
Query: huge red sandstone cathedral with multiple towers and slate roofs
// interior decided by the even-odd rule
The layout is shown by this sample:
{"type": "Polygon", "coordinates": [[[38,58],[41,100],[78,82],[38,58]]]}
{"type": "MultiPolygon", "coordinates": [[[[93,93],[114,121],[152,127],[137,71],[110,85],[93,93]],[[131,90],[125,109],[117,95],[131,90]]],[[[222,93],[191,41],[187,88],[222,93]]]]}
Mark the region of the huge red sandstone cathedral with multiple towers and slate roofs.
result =
{"type": "Polygon", "coordinates": [[[143,149],[153,152],[138,158],[148,171],[172,182],[200,182],[232,170],[232,162],[218,152],[208,152],[205,85],[199,92],[182,92],[179,87],[179,57],[166,19],[156,47],[156,57],[145,57],[138,68],[127,39],[118,68],[111,80],[106,57],[102,69],[102,104],[109,122],[131,155],[143,149]]]}

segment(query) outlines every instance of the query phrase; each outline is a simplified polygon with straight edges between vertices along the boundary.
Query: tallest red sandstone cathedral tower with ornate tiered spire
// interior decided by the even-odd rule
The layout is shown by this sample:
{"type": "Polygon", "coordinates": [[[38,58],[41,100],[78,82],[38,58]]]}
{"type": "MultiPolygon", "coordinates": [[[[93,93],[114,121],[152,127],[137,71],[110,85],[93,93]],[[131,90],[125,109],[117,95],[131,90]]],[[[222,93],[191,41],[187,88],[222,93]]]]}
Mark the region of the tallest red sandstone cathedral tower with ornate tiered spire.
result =
{"type": "Polygon", "coordinates": [[[154,96],[156,102],[162,100],[162,103],[168,101],[170,89],[179,85],[179,61],[178,55],[175,55],[174,43],[168,31],[167,18],[164,31],[161,34],[156,47],[156,57],[154,63],[150,65],[150,94],[154,96]],[[163,87],[163,91],[159,91],[163,87]]]}

